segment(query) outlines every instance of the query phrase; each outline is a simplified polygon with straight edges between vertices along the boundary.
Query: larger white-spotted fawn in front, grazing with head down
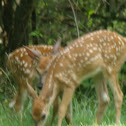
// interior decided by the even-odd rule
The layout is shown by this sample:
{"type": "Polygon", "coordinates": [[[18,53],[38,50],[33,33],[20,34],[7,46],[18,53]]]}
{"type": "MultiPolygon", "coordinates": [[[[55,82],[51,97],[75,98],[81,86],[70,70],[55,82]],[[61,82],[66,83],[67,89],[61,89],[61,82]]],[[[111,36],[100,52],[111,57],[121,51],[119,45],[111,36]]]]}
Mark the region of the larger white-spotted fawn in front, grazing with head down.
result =
{"type": "Polygon", "coordinates": [[[32,117],[35,125],[45,125],[51,104],[62,93],[57,123],[57,126],[61,126],[76,88],[90,77],[94,78],[98,98],[97,124],[100,124],[110,102],[107,81],[114,97],[115,123],[118,124],[123,102],[118,73],[126,60],[125,51],[126,39],[107,30],[87,33],[59,51],[48,65],[39,96],[27,83],[28,92],[33,98],[32,117]]]}

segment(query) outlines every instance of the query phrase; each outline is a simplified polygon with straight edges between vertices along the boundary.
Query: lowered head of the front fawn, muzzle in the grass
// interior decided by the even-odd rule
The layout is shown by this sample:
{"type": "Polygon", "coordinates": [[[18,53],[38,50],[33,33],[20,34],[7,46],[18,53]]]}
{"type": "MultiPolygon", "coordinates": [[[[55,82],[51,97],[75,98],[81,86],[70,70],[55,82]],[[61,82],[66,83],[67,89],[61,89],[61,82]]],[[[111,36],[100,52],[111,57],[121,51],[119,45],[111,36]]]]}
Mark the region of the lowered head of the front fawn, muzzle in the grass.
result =
{"type": "Polygon", "coordinates": [[[32,117],[36,126],[44,126],[49,113],[49,107],[47,106],[48,100],[44,97],[39,97],[34,89],[27,84],[28,93],[33,98],[32,104],[32,117]]]}

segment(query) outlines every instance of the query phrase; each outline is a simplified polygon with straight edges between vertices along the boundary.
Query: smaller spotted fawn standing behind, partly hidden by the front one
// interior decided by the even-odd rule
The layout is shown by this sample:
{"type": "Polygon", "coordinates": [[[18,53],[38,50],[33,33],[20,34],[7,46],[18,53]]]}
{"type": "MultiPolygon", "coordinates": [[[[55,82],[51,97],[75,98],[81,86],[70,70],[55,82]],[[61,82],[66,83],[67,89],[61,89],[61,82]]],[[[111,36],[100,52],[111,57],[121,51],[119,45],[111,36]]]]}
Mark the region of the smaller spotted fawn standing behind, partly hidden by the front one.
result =
{"type": "MultiPolygon", "coordinates": [[[[9,54],[9,68],[14,80],[18,84],[17,95],[9,106],[14,106],[17,112],[22,109],[23,103],[27,98],[27,82],[32,84],[36,73],[43,73],[51,59],[52,52],[53,46],[38,45],[22,47],[9,54]],[[29,57],[30,52],[27,48],[29,48],[29,51],[35,52],[36,59],[34,59],[34,55],[29,57]],[[46,60],[39,59],[39,56],[46,56],[46,60]]],[[[42,88],[41,86],[39,85],[39,88],[42,88]]]]}

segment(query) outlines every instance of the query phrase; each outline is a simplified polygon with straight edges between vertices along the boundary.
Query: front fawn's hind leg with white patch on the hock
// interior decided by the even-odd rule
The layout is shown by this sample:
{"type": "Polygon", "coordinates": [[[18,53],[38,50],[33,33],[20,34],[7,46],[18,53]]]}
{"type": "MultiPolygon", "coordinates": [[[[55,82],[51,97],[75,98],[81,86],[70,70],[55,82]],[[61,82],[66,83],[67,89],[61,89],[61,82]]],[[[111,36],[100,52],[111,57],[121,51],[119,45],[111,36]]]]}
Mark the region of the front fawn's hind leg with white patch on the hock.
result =
{"type": "Polygon", "coordinates": [[[102,73],[94,77],[95,89],[98,97],[98,109],[96,114],[97,123],[100,124],[104,111],[110,102],[107,83],[102,73]]]}

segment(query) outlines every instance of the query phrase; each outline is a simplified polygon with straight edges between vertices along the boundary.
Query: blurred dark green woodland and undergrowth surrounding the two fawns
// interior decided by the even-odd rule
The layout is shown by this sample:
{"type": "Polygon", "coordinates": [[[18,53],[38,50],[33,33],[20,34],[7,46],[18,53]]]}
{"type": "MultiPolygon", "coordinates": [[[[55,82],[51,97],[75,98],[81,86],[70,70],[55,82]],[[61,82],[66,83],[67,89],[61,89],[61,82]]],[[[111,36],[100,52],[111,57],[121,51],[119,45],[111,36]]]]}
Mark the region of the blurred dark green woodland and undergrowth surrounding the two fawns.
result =
{"type": "MultiPolygon", "coordinates": [[[[6,67],[6,53],[23,45],[53,45],[59,37],[62,39],[62,46],[66,46],[74,38],[99,29],[116,31],[126,36],[125,3],[125,0],[0,0],[0,126],[11,126],[14,121],[15,126],[27,126],[28,122],[33,122],[29,113],[31,108],[27,104],[23,113],[25,124],[20,122],[15,113],[11,115],[12,110],[7,106],[16,92],[16,85],[13,85],[13,79],[6,67]]],[[[119,79],[125,95],[125,64],[119,79]]],[[[97,105],[94,94],[92,79],[83,82],[77,89],[73,100],[75,124],[93,124],[97,105]],[[86,111],[82,112],[81,109],[86,111]],[[82,117],[77,118],[81,113],[82,117]]],[[[113,117],[113,107],[110,106],[112,109],[106,115],[113,117]]],[[[125,107],[122,113],[122,122],[125,123],[124,112],[125,107]]],[[[105,123],[113,122],[113,118],[105,116],[105,123]]]]}

